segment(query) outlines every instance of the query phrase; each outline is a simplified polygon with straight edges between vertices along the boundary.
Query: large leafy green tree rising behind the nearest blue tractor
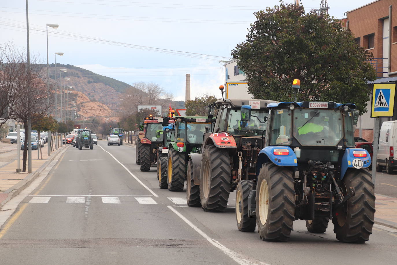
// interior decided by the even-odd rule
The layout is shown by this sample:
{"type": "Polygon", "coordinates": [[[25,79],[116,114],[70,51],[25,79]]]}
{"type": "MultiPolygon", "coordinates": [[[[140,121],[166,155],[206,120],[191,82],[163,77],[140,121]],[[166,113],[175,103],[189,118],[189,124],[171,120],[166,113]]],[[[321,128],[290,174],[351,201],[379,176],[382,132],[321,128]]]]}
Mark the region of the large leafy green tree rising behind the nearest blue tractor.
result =
{"type": "Polygon", "coordinates": [[[254,15],[247,41],[231,53],[254,98],[291,101],[292,81],[300,79],[299,101],[356,103],[366,111],[367,81],[376,79],[372,55],[340,21],[292,4],[254,15]]]}

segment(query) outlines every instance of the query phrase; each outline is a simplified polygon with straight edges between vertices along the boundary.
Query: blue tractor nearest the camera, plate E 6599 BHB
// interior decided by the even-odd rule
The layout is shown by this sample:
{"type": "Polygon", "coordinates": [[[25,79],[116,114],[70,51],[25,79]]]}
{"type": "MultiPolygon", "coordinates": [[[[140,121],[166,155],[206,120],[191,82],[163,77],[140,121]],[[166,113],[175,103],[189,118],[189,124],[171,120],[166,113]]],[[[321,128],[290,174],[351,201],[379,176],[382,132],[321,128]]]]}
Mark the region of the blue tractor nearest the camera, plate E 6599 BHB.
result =
{"type": "MultiPolygon", "coordinates": [[[[293,87],[299,88],[298,79],[293,87]]],[[[239,230],[254,231],[257,225],[262,240],[286,241],[294,220],[306,220],[309,232],[323,233],[331,219],[338,240],[369,240],[374,184],[369,153],[355,148],[355,104],[295,99],[267,107],[256,181],[237,186],[239,230]]]]}

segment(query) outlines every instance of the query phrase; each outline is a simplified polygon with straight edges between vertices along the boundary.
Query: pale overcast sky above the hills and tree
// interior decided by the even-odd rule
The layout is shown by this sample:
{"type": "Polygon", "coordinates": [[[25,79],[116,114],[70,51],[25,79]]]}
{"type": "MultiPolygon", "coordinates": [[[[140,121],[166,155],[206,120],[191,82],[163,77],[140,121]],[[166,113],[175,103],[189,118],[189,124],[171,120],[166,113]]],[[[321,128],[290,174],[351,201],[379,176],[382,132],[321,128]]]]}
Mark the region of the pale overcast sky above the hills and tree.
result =
{"type": "MultiPolygon", "coordinates": [[[[308,12],[321,1],[301,2],[308,12]]],[[[329,13],[343,18],[346,11],[370,2],[329,0],[329,13]]],[[[54,52],[64,52],[57,63],[129,84],[158,83],[172,91],[175,100],[185,99],[185,74],[191,74],[192,98],[218,95],[225,80],[220,60],[230,58],[236,44],[245,41],[254,12],[278,4],[279,0],[29,0],[30,51],[46,62],[46,24],[54,23],[58,29],[48,27],[50,64],[54,52]]],[[[2,42],[26,47],[25,0],[0,1],[0,36],[2,42]]]]}

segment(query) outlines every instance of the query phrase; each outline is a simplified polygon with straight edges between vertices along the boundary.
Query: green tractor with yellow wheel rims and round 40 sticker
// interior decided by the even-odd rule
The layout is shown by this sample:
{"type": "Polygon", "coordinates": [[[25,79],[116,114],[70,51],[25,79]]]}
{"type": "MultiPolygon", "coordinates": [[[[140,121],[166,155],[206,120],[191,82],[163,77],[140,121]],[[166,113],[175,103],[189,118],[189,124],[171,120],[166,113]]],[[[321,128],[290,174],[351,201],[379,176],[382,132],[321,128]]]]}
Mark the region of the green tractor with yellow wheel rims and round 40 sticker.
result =
{"type": "MultiPolygon", "coordinates": [[[[168,147],[166,179],[159,178],[160,188],[181,191],[187,176],[189,154],[201,153],[204,133],[212,132],[215,118],[200,116],[175,116],[175,127],[171,130],[168,147]]],[[[163,148],[164,148],[163,147],[163,148]]],[[[187,183],[189,186],[189,183],[187,183]]]]}

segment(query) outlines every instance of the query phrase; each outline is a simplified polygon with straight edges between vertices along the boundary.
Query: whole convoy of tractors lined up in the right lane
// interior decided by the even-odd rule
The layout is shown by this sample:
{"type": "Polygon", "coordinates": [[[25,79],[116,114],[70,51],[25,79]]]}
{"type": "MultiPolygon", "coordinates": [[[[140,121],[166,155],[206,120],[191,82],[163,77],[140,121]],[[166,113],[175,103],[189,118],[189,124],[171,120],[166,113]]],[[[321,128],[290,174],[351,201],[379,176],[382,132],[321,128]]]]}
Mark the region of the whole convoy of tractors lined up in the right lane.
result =
{"type": "Polygon", "coordinates": [[[355,104],[224,99],[208,116],[146,117],[139,126],[136,162],[157,164],[159,187],[182,191],[187,205],[227,208],[235,192],[240,231],[286,241],[293,221],[323,233],[328,222],[341,242],[372,234],[374,184],[368,151],[355,148],[355,104]],[[216,117],[214,113],[218,109],[216,117]]]}

